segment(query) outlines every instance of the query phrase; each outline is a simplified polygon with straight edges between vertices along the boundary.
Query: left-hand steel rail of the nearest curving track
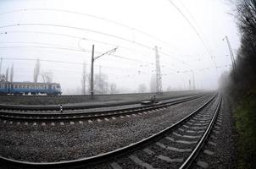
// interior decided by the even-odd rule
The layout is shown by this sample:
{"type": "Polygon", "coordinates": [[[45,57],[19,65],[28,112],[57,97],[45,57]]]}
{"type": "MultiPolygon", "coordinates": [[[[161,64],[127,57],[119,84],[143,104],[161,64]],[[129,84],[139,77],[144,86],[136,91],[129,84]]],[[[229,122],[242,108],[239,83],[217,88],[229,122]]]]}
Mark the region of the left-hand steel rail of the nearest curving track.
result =
{"type": "Polygon", "coordinates": [[[77,160],[72,161],[58,161],[58,162],[29,162],[29,161],[17,161],[13,159],[8,159],[3,156],[0,156],[0,161],[2,161],[6,166],[10,167],[16,167],[17,169],[31,169],[31,168],[80,168],[85,166],[92,166],[95,164],[99,164],[105,161],[108,161],[110,159],[114,159],[115,157],[118,157],[120,155],[125,155],[127,153],[130,153],[131,151],[142,149],[142,147],[147,146],[148,144],[151,144],[153,141],[160,139],[164,136],[164,134],[170,133],[174,128],[181,126],[182,123],[185,123],[188,121],[193,115],[195,115],[198,112],[201,112],[205,106],[208,106],[211,101],[214,100],[216,95],[214,95],[212,98],[209,99],[209,101],[206,101],[202,106],[198,107],[197,110],[193,111],[186,117],[183,117],[180,121],[177,123],[171,125],[168,128],[165,128],[164,130],[160,131],[157,134],[153,134],[150,137],[147,137],[146,139],[142,139],[134,144],[126,145],[125,147],[122,147],[117,150],[109,151],[107,153],[103,153],[100,155],[94,155],[86,158],[81,158],[77,160]]]}

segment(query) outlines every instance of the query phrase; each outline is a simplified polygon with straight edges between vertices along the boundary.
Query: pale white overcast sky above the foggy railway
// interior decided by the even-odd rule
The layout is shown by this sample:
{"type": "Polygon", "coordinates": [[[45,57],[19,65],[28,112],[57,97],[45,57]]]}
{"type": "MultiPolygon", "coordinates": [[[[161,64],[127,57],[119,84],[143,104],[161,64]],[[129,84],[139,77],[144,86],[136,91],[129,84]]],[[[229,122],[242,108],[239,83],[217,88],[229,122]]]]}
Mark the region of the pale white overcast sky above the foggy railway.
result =
{"type": "Polygon", "coordinates": [[[197,89],[216,89],[231,59],[225,35],[236,54],[239,34],[226,0],[1,0],[2,74],[14,63],[14,81],[32,81],[36,61],[52,71],[62,89],[81,88],[82,63],[95,62],[119,89],[149,90],[159,47],[163,89],[187,89],[195,74],[197,89]],[[186,19],[185,19],[186,18],[186,19]],[[17,59],[32,59],[17,60],[17,59]],[[72,64],[77,63],[77,64],[72,64]],[[216,68],[218,67],[218,68],[216,68]]]}

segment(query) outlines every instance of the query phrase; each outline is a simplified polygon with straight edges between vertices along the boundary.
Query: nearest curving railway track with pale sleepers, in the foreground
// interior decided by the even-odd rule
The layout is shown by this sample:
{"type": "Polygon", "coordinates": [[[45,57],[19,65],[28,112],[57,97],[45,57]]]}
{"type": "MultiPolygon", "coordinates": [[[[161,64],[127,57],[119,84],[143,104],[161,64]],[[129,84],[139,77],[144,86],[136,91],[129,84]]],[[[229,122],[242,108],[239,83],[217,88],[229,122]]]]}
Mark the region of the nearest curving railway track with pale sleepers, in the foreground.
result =
{"type": "Polygon", "coordinates": [[[0,157],[3,168],[188,168],[195,161],[220,111],[221,96],[168,128],[108,153],[74,161],[26,162],[0,157]]]}

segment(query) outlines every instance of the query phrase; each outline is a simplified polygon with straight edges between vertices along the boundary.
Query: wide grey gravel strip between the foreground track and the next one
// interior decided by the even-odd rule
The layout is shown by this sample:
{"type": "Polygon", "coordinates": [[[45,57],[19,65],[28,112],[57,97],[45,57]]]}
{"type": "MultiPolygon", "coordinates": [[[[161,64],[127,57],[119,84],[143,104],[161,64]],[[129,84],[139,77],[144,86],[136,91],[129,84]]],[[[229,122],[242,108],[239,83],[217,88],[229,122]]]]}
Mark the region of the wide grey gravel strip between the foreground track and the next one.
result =
{"type": "Polygon", "coordinates": [[[212,95],[187,101],[158,112],[117,117],[101,122],[24,123],[0,122],[0,155],[19,161],[67,161],[98,155],[158,133],[196,110],[212,95]]]}

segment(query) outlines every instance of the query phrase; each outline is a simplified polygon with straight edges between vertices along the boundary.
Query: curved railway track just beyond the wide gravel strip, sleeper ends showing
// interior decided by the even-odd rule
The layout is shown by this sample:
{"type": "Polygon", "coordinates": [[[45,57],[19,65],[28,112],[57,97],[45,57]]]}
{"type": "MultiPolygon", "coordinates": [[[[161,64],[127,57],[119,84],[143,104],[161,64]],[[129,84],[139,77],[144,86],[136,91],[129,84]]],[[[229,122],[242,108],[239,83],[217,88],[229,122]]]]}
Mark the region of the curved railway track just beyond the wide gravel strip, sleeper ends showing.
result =
{"type": "Polygon", "coordinates": [[[37,121],[71,121],[71,120],[81,120],[81,119],[97,119],[97,118],[108,118],[125,116],[129,114],[136,114],[142,112],[154,112],[161,109],[168,108],[175,104],[183,103],[186,101],[192,101],[203,97],[205,95],[193,95],[185,98],[176,99],[175,101],[165,101],[163,103],[154,104],[151,106],[139,106],[131,107],[125,109],[109,110],[109,111],[99,111],[99,112],[69,112],[69,113],[39,113],[39,112],[6,112],[0,111],[0,119],[13,121],[25,121],[25,122],[37,122],[37,121]]]}

